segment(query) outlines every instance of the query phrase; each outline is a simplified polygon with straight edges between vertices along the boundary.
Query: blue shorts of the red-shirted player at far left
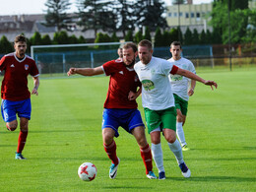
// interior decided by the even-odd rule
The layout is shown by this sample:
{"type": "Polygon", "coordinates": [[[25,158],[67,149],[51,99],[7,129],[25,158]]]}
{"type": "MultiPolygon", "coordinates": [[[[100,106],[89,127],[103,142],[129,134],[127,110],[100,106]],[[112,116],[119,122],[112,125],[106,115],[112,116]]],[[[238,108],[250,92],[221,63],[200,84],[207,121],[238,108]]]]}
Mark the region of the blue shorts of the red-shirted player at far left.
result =
{"type": "Polygon", "coordinates": [[[25,117],[31,119],[32,114],[32,102],[31,98],[25,100],[12,101],[7,99],[2,99],[1,103],[2,117],[5,122],[11,122],[15,120],[16,114],[19,117],[25,117]]]}

